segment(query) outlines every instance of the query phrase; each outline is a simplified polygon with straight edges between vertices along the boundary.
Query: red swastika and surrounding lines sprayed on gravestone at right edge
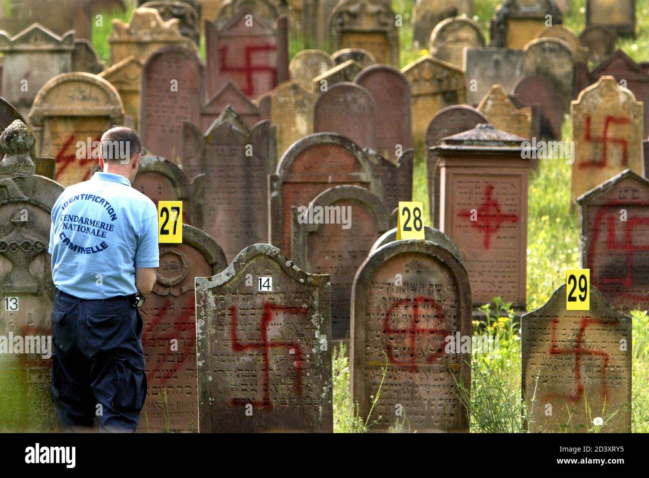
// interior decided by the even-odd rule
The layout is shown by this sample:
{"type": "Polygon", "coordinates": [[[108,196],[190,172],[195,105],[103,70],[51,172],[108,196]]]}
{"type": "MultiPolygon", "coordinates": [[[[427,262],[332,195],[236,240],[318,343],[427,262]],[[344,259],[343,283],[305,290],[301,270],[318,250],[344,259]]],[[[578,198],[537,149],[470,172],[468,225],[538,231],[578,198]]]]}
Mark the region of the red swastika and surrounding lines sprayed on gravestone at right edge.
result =
{"type": "Polygon", "coordinates": [[[619,206],[615,202],[602,206],[598,209],[597,214],[595,215],[595,221],[593,224],[593,229],[591,230],[591,242],[588,249],[588,264],[591,267],[591,283],[598,289],[602,291],[609,291],[619,294],[620,296],[626,297],[631,300],[637,300],[639,302],[646,302],[647,297],[645,295],[633,294],[626,292],[624,289],[630,289],[633,287],[633,256],[635,252],[649,252],[649,245],[635,245],[633,243],[633,229],[636,226],[643,225],[649,226],[649,218],[627,218],[624,223],[624,243],[615,242],[615,224],[620,223],[619,216],[616,213],[611,215],[606,215],[606,212],[609,208],[619,206]],[[595,252],[598,245],[598,239],[602,229],[602,224],[606,222],[607,224],[607,236],[606,236],[606,247],[608,250],[622,250],[626,254],[626,272],[624,277],[606,277],[600,276],[599,269],[596,267],[595,262],[595,252]],[[615,286],[618,287],[615,287],[615,286]],[[621,289],[622,286],[624,289],[621,289]]]}

